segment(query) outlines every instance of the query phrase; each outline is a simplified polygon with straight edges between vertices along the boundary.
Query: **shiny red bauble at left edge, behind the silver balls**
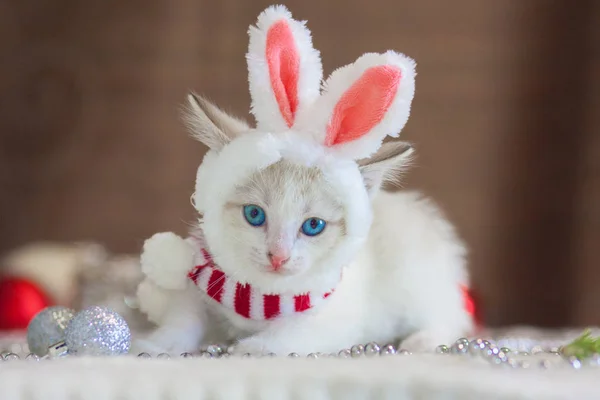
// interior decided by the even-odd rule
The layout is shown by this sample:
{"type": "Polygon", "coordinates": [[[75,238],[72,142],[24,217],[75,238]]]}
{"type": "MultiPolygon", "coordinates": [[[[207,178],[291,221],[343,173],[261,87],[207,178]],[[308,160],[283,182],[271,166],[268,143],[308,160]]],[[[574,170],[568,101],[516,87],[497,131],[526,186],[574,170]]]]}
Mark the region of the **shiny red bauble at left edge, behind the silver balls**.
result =
{"type": "Polygon", "coordinates": [[[27,329],[29,321],[52,305],[35,283],[17,277],[0,278],[0,331],[27,329]]]}

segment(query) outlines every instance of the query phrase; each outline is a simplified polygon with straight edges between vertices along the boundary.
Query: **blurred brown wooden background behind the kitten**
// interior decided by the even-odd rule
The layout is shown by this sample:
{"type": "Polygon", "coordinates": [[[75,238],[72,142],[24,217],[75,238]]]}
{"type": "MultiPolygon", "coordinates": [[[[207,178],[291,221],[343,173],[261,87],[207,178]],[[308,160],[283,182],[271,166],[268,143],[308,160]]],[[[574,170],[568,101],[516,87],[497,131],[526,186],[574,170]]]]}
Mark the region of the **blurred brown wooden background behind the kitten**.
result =
{"type": "MultiPolygon", "coordinates": [[[[263,0],[0,0],[0,251],[183,233],[203,147],[188,89],[240,115],[263,0]]],[[[418,62],[406,186],[471,247],[488,323],[600,323],[600,2],[294,0],[326,73],[418,62]]]]}

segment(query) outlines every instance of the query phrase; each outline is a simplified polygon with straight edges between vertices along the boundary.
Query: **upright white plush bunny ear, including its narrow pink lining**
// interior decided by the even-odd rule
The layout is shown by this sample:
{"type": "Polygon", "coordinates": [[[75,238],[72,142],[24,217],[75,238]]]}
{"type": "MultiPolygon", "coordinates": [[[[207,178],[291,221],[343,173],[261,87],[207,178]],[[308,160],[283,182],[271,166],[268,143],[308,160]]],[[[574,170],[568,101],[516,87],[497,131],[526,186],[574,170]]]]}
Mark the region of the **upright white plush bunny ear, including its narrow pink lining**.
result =
{"type": "Polygon", "coordinates": [[[284,6],[263,11],[248,34],[248,81],[257,128],[285,131],[298,110],[319,96],[321,57],[305,22],[292,19],[284,6]]]}

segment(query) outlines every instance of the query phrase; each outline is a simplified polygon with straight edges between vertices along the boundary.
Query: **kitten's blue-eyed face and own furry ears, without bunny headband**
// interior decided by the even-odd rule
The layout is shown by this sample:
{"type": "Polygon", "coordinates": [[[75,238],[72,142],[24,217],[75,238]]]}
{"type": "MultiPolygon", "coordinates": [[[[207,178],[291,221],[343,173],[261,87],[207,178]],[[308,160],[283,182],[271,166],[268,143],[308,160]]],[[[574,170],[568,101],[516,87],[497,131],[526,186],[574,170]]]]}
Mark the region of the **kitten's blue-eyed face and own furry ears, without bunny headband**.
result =
{"type": "MultiPolygon", "coordinates": [[[[250,134],[244,122],[207,100],[190,95],[189,102],[188,125],[211,152],[218,154],[234,138],[250,134]]],[[[361,160],[361,187],[355,195],[366,193],[372,199],[385,181],[398,180],[411,153],[404,142],[387,142],[361,160]]],[[[223,172],[207,170],[216,176],[223,172]]],[[[349,207],[351,199],[332,178],[317,166],[282,159],[237,182],[203,216],[207,244],[219,266],[264,289],[330,288],[368,234],[370,219],[365,215],[371,212],[369,203],[349,207]],[[364,221],[357,233],[347,229],[353,220],[364,221]]]]}

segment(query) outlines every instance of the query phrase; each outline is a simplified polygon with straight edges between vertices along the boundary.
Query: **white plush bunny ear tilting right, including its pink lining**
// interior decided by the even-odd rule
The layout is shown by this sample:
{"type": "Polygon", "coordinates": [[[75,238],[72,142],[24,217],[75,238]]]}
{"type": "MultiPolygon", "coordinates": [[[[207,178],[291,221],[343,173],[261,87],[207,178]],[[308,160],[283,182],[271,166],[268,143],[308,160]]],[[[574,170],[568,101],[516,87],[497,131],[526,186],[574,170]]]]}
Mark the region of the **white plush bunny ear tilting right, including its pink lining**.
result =
{"type": "Polygon", "coordinates": [[[369,157],[386,136],[397,137],[415,92],[415,63],[393,51],[368,53],[334,71],[323,94],[298,121],[340,156],[369,157]]]}

